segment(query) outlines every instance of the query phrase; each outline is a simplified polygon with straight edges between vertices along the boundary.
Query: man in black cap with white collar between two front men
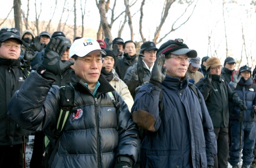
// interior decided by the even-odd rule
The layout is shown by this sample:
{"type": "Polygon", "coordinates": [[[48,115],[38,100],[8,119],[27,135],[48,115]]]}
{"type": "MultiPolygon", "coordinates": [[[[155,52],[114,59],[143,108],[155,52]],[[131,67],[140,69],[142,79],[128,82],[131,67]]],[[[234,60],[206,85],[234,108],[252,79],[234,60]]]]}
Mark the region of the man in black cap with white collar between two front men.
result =
{"type": "Polygon", "coordinates": [[[151,71],[156,61],[157,49],[154,42],[147,41],[143,43],[140,47],[140,54],[142,55],[139,55],[138,63],[130,66],[126,71],[124,82],[133,98],[135,98],[135,89],[149,82],[151,71]]]}

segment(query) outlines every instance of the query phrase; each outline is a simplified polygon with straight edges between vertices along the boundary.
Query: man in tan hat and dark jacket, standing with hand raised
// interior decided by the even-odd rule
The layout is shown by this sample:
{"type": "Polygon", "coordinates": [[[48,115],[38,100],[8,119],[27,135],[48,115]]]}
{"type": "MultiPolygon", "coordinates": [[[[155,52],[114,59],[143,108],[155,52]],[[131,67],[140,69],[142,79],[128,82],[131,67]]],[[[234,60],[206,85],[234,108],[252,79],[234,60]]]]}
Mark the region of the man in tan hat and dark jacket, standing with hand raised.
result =
{"type": "Polygon", "coordinates": [[[221,63],[217,57],[210,57],[206,61],[206,77],[196,83],[197,88],[204,96],[207,110],[212,119],[215,137],[218,144],[218,154],[214,158],[214,167],[228,167],[228,123],[229,101],[240,110],[246,110],[246,106],[233,91],[221,74],[221,63]]]}

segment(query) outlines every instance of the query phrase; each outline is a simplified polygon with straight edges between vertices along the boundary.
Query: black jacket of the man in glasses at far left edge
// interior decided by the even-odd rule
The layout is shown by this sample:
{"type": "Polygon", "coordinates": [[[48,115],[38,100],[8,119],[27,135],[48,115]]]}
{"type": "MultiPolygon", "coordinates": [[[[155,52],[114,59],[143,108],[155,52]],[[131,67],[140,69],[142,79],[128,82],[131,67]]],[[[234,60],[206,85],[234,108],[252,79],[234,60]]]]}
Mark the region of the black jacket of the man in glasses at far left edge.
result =
{"type": "Polygon", "coordinates": [[[22,135],[29,133],[21,129],[20,125],[7,115],[7,105],[12,95],[20,89],[30,72],[28,67],[22,66],[22,61],[21,58],[18,60],[0,58],[0,146],[22,144],[22,135]]]}

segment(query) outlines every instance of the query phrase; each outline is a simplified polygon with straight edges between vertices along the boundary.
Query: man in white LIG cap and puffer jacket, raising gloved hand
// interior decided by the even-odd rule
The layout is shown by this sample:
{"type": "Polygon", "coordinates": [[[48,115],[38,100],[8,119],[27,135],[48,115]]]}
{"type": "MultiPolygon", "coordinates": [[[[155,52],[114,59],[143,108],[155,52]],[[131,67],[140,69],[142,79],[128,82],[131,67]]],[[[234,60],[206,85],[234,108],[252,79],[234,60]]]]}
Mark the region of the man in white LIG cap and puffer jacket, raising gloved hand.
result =
{"type": "Polygon", "coordinates": [[[62,39],[51,39],[37,71],[30,73],[12,97],[11,118],[24,128],[44,130],[54,144],[60,100],[70,102],[71,114],[57,141],[57,152],[52,153],[50,166],[132,167],[140,149],[138,128],[122,97],[100,75],[101,54],[106,52],[96,40],[81,38],[71,45],[69,61],[61,62],[66,47],[62,39]],[[73,91],[66,91],[63,96],[63,91],[53,84],[55,75],[69,66],[74,70],[70,72],[73,91]]]}

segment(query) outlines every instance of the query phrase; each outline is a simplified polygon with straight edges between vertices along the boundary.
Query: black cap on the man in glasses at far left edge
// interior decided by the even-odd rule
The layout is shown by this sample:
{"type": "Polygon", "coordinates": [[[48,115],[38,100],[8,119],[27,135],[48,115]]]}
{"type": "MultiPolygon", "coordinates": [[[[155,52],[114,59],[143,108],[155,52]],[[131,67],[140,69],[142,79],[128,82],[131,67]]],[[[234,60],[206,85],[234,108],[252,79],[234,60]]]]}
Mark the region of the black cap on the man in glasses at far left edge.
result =
{"type": "Polygon", "coordinates": [[[16,28],[7,28],[1,30],[0,42],[3,42],[8,39],[14,39],[17,40],[20,44],[23,44],[22,40],[20,39],[20,32],[16,28]]]}

